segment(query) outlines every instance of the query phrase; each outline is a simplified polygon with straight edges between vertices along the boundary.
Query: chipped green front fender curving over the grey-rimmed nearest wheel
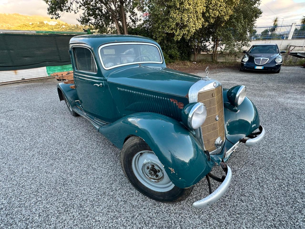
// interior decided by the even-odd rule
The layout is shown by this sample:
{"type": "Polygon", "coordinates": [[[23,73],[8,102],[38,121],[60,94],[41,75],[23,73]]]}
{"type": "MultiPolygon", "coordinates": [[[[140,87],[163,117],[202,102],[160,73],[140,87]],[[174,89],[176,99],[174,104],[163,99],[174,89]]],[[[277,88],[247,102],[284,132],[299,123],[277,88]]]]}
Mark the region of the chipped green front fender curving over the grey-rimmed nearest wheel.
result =
{"type": "Polygon", "coordinates": [[[142,138],[164,165],[170,180],[181,188],[196,184],[214,165],[195,136],[164,115],[135,113],[101,126],[99,132],[120,149],[127,136],[142,138]]]}

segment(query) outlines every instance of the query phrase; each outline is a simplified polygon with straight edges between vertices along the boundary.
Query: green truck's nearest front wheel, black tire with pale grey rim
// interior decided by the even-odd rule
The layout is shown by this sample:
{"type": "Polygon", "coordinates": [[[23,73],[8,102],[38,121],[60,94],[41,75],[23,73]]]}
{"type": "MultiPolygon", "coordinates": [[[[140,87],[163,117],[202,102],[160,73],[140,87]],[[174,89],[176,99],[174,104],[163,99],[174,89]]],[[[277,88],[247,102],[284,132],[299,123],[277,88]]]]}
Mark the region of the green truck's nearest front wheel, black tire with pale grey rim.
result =
{"type": "Polygon", "coordinates": [[[175,203],[184,200],[192,192],[192,187],[179,188],[170,181],[156,154],[137,136],[131,136],[125,142],[120,159],[127,179],[149,198],[175,203]]]}

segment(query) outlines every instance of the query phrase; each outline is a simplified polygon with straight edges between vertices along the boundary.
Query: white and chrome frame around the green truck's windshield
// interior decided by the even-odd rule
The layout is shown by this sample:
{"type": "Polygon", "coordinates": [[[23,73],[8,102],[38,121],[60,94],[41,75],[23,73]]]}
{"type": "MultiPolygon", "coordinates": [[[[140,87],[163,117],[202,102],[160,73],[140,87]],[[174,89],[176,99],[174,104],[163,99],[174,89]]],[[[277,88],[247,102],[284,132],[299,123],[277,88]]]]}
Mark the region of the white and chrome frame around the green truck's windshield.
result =
{"type": "Polygon", "coordinates": [[[102,64],[102,66],[105,70],[109,70],[109,69],[112,69],[112,68],[115,68],[115,67],[120,67],[120,66],[131,65],[131,64],[145,64],[145,63],[162,64],[163,63],[163,57],[161,55],[159,47],[157,45],[149,43],[149,42],[115,42],[115,43],[108,43],[108,44],[101,45],[98,49],[98,53],[99,53],[99,59],[101,61],[101,64],[102,64]],[[105,65],[103,63],[103,60],[102,60],[102,56],[101,56],[101,49],[106,47],[106,46],[112,46],[112,45],[152,45],[152,46],[155,46],[158,49],[161,61],[160,62],[157,62],[157,61],[138,61],[138,62],[129,62],[129,63],[124,63],[124,64],[117,64],[117,65],[113,65],[111,67],[105,67],[105,65]]]}

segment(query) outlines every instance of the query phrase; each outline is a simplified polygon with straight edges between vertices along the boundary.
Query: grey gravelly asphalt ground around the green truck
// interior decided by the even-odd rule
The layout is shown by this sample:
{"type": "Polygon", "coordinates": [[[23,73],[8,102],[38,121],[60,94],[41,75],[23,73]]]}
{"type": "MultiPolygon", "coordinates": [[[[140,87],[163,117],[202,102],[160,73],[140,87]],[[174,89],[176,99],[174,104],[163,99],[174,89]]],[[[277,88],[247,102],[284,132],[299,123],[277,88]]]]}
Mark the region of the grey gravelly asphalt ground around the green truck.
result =
{"type": "Polygon", "coordinates": [[[70,115],[55,79],[0,86],[0,228],[304,228],[305,69],[209,76],[247,86],[266,135],[234,152],[227,193],[205,209],[191,207],[205,179],[176,204],[136,191],[119,149],[70,115]]]}

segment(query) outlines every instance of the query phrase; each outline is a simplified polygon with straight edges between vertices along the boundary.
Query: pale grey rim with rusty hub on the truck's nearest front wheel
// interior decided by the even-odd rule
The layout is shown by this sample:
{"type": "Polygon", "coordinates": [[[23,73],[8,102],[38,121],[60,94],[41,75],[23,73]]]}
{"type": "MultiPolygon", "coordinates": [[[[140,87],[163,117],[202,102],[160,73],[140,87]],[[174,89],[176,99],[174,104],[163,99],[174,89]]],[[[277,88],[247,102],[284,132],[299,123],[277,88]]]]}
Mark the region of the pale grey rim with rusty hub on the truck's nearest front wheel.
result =
{"type": "Polygon", "coordinates": [[[158,157],[152,151],[139,151],[131,162],[132,170],[137,179],[149,189],[167,192],[174,188],[158,157]]]}

